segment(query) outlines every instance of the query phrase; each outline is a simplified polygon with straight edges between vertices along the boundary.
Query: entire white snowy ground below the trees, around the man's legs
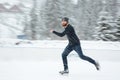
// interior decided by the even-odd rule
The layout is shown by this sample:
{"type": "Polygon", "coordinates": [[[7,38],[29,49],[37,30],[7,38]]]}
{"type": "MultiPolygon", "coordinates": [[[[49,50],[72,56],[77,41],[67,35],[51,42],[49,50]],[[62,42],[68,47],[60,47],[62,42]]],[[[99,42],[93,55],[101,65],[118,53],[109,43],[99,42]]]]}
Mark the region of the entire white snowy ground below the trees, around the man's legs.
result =
{"type": "Polygon", "coordinates": [[[69,75],[63,70],[61,53],[67,41],[0,40],[0,80],[119,80],[120,42],[81,41],[85,55],[99,61],[101,70],[68,56],[69,75]]]}

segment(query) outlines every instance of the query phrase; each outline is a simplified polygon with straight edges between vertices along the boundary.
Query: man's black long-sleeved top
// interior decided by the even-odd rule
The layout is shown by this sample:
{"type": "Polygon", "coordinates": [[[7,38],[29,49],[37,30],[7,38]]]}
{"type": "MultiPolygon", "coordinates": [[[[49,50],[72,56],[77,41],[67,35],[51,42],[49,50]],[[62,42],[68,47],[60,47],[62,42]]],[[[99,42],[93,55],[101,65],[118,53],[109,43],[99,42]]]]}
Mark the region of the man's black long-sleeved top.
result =
{"type": "Polygon", "coordinates": [[[75,46],[80,44],[79,38],[77,37],[74,28],[70,24],[65,28],[65,30],[62,33],[56,31],[53,31],[53,33],[60,37],[67,35],[70,46],[75,46]]]}

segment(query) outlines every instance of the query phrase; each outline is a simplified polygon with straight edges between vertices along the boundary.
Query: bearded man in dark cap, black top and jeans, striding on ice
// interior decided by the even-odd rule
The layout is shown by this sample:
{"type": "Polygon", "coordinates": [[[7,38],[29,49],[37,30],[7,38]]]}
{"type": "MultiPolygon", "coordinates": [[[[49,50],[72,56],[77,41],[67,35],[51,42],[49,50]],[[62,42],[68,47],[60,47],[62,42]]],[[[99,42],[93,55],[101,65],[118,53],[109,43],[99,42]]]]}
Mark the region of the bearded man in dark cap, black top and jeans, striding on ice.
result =
{"type": "Polygon", "coordinates": [[[99,70],[98,62],[96,62],[92,58],[90,58],[88,56],[85,56],[83,54],[81,46],[80,46],[79,38],[77,37],[77,35],[74,31],[74,28],[69,24],[69,18],[67,18],[67,17],[62,18],[61,24],[65,28],[65,30],[62,33],[51,30],[52,33],[54,33],[54,34],[56,34],[60,37],[63,37],[64,35],[67,35],[67,38],[68,38],[68,41],[69,41],[68,45],[66,46],[66,48],[64,49],[64,51],[62,53],[64,70],[60,71],[59,73],[61,73],[61,74],[69,73],[67,56],[73,50],[75,50],[78,53],[78,55],[81,59],[86,60],[86,61],[94,64],[96,69],[99,70]]]}

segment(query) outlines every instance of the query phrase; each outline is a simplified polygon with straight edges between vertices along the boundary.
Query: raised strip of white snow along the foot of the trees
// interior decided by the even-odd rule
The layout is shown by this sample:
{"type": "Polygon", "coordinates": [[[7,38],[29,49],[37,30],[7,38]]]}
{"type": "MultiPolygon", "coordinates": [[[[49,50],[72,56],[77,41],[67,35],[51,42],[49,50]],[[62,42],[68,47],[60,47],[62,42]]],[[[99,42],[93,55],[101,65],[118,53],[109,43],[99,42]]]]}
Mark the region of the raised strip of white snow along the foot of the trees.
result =
{"type": "MultiPolygon", "coordinates": [[[[80,41],[84,49],[107,49],[120,50],[120,42],[111,41],[80,41]]],[[[39,47],[39,48],[64,48],[68,44],[67,40],[22,40],[1,38],[1,47],[39,47]],[[16,45],[16,43],[19,43],[16,45]]]]}

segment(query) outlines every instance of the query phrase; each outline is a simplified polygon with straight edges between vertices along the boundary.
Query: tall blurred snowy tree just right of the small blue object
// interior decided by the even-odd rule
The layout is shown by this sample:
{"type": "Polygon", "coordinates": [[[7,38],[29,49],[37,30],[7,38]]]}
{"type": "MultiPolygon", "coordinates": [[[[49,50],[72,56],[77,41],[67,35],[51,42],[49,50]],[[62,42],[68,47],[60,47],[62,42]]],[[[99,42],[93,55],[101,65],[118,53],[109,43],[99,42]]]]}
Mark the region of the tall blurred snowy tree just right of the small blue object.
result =
{"type": "Polygon", "coordinates": [[[44,32],[46,28],[41,19],[41,5],[43,5],[43,3],[39,0],[32,0],[32,5],[26,7],[28,10],[26,10],[24,17],[24,33],[27,39],[45,39],[44,32]]]}

